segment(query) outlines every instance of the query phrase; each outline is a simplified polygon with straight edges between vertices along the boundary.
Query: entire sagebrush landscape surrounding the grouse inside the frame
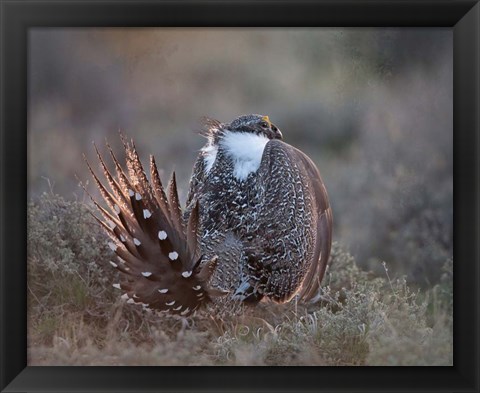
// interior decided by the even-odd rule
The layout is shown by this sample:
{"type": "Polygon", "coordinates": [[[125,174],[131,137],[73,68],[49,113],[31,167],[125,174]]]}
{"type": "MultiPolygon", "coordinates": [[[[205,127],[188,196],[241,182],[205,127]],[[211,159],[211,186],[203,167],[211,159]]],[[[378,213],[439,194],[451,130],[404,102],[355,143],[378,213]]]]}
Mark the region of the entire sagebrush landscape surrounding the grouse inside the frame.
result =
{"type": "Polygon", "coordinates": [[[432,28],[31,29],[33,362],[190,362],[184,330],[171,342],[177,322],[118,302],[75,174],[90,178],[92,141],[120,153],[122,130],[164,179],[175,169],[184,200],[205,142],[199,118],[260,113],[322,173],[337,242],[331,301],[306,319],[296,305],[283,320],[270,310],[265,334],[251,321],[194,330],[199,363],[255,363],[256,348],[259,364],[451,364],[452,49],[451,30],[432,28]],[[138,357],[152,337],[157,347],[138,357]],[[113,360],[100,359],[105,347],[113,360]],[[285,358],[292,351],[303,358],[285,358]]]}

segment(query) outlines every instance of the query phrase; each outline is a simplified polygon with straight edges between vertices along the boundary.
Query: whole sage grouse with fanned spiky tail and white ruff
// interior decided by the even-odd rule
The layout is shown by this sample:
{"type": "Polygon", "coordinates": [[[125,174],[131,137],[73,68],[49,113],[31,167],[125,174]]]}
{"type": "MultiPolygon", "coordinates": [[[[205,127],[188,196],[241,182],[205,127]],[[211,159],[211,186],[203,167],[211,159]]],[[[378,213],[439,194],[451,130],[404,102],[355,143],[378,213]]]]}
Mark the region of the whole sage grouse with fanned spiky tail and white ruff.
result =
{"type": "MultiPolygon", "coordinates": [[[[109,189],[94,200],[129,303],[187,316],[213,304],[235,309],[260,300],[308,301],[330,254],[332,211],[315,164],[282,142],[268,116],[231,123],[206,119],[185,211],[175,173],[165,190],[150,157],[150,180],[133,141],[122,136],[127,173],[115,175],[95,147],[109,189]]],[[[217,308],[218,308],[217,307],[217,308]]]]}

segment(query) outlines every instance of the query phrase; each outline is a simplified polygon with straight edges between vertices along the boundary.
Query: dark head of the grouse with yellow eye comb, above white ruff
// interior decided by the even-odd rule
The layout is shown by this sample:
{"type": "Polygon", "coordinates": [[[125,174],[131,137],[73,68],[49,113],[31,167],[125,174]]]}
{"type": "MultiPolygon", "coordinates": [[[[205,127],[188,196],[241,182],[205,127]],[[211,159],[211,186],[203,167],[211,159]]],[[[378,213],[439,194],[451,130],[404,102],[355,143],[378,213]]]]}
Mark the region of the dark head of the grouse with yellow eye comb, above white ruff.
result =
{"type": "Polygon", "coordinates": [[[221,123],[218,120],[204,118],[202,134],[211,145],[216,145],[226,133],[250,133],[267,139],[282,139],[282,132],[273,124],[268,116],[242,115],[230,123],[221,123]]]}

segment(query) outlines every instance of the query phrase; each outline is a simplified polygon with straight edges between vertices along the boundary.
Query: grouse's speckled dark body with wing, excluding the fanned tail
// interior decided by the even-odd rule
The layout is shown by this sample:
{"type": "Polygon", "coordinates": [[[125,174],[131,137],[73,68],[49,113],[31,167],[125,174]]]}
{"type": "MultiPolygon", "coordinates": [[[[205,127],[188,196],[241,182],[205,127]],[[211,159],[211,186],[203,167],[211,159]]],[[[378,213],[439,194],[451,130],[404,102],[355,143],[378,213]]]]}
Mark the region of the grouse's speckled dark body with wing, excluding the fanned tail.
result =
{"type": "MultiPolygon", "coordinates": [[[[239,179],[221,143],[232,124],[216,124],[221,132],[216,129],[202,149],[187,198],[187,212],[194,202],[200,206],[202,254],[219,257],[212,285],[229,291],[219,301],[311,299],[332,240],[332,212],[318,169],[304,153],[273,139],[258,170],[239,179]],[[206,170],[211,151],[215,159],[206,170]]],[[[240,121],[236,127],[242,130],[240,121]]]]}

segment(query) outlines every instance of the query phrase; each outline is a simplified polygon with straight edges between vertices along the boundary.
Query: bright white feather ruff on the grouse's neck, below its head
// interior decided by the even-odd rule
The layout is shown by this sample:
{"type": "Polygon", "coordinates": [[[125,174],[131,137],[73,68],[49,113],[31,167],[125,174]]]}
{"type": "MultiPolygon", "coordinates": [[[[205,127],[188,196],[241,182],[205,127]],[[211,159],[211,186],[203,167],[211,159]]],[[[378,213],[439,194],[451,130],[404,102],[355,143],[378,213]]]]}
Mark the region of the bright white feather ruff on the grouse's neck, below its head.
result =
{"type": "MultiPolygon", "coordinates": [[[[269,139],[265,136],[247,132],[227,132],[219,142],[220,147],[233,162],[233,176],[240,181],[245,180],[252,172],[256,172],[262,161],[263,150],[269,139]]],[[[205,172],[208,173],[218,153],[217,146],[203,149],[205,172]]]]}

